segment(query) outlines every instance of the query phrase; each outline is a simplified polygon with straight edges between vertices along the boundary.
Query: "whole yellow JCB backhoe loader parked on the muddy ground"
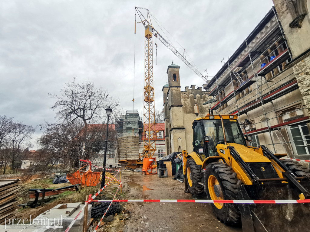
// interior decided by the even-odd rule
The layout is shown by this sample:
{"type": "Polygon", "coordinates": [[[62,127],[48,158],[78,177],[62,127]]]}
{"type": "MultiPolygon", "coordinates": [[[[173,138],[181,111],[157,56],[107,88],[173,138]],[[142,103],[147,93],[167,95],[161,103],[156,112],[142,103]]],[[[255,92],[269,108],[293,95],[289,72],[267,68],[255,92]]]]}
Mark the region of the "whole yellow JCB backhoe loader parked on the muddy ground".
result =
{"type": "MultiPolygon", "coordinates": [[[[237,115],[207,114],[193,121],[193,152],[183,153],[185,191],[209,200],[310,199],[310,174],[300,163],[280,160],[266,146],[251,147],[237,115]]],[[[212,203],[216,217],[243,231],[310,231],[309,203],[212,203]]]]}

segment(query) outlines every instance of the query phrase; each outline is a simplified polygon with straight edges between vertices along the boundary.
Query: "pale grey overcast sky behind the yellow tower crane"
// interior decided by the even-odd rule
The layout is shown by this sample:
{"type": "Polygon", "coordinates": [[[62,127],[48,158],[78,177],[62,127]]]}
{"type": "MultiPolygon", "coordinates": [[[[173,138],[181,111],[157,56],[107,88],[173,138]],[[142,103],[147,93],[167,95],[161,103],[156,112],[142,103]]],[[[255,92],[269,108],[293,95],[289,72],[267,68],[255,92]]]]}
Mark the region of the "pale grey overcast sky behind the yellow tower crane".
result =
{"type": "MultiPolygon", "coordinates": [[[[144,27],[137,24],[135,36],[135,6],[148,8],[161,24],[152,19],[153,27],[181,54],[184,48],[186,58],[201,73],[207,68],[213,76],[221,60],[227,61],[272,5],[272,0],[2,0],[0,115],[33,127],[53,122],[54,99],[48,93],[59,94],[74,76],[78,82],[91,80],[118,97],[124,112],[134,108],[142,116],[144,27]]],[[[172,61],[180,66],[181,90],[204,82],[154,38],[155,42],[155,108],[162,110],[162,86],[172,61]]],[[[37,130],[34,138],[41,133],[37,130]]],[[[37,149],[36,144],[32,148],[37,149]]]]}

